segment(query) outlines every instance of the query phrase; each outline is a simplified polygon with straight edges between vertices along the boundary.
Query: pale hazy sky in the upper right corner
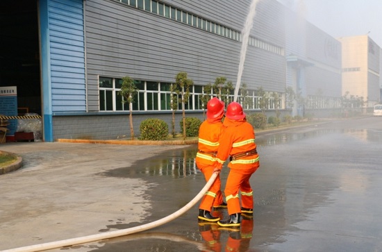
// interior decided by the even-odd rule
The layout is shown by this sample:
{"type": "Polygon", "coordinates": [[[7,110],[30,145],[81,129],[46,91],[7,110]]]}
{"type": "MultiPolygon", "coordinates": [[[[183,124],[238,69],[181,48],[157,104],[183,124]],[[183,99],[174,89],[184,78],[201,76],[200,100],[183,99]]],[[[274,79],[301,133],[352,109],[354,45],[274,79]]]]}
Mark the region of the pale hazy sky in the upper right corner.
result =
{"type": "Polygon", "coordinates": [[[365,35],[382,47],[382,0],[277,0],[333,37],[365,35]]]}

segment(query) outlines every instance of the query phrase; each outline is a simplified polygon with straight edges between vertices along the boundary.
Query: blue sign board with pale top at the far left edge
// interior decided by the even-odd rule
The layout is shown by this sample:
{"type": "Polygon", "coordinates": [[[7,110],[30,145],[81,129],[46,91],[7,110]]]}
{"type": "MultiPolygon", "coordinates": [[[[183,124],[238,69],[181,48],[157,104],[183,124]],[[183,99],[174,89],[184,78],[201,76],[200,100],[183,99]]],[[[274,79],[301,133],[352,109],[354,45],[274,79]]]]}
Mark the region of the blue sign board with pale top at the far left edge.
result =
{"type": "MultiPolygon", "coordinates": [[[[17,116],[17,87],[0,87],[0,115],[17,116]]],[[[15,135],[17,120],[9,120],[7,135],[15,135]]]]}

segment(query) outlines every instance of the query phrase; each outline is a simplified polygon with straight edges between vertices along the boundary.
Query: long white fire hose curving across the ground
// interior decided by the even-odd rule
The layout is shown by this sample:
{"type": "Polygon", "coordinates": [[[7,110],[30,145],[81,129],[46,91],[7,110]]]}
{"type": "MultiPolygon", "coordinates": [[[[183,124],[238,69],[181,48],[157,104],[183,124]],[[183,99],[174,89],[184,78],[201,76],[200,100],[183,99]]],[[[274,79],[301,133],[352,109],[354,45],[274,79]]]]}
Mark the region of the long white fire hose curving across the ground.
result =
{"type": "Polygon", "coordinates": [[[219,173],[214,172],[213,175],[211,176],[211,178],[206,183],[206,185],[204,185],[204,187],[201,189],[199,194],[197,194],[197,196],[195,196],[194,199],[192,199],[192,201],[187,203],[187,205],[183,206],[183,208],[177,210],[172,215],[169,215],[169,216],[164,217],[162,219],[158,219],[157,221],[153,221],[153,222],[150,222],[148,224],[141,225],[141,226],[135,226],[133,228],[126,228],[126,229],[122,229],[122,230],[110,231],[108,233],[99,233],[97,235],[88,235],[88,236],[77,237],[77,238],[72,238],[72,239],[67,239],[67,240],[56,241],[56,242],[47,242],[47,243],[43,243],[43,244],[23,246],[23,247],[19,247],[16,249],[8,249],[8,250],[1,251],[1,252],[34,252],[34,251],[44,251],[47,249],[57,249],[57,248],[61,248],[63,246],[72,246],[72,245],[83,244],[83,243],[87,243],[87,242],[106,240],[109,238],[119,237],[119,236],[123,236],[123,235],[131,235],[133,233],[138,233],[138,232],[142,232],[144,230],[149,230],[151,228],[155,228],[155,227],[163,225],[169,221],[172,221],[173,219],[176,219],[177,217],[183,215],[185,212],[190,210],[190,208],[192,208],[192,206],[194,206],[204,196],[204,194],[206,194],[208,189],[210,189],[211,185],[215,181],[218,174],[219,173]]]}

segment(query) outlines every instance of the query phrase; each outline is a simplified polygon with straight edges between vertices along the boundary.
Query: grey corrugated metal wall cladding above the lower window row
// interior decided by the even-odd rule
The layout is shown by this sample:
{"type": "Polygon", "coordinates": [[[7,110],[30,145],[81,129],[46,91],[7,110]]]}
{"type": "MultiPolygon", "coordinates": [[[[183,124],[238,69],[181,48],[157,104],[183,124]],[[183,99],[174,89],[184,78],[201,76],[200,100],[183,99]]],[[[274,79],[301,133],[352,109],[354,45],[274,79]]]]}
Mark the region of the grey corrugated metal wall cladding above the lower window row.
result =
{"type": "MultiPolygon", "coordinates": [[[[250,2],[166,3],[241,31],[250,2]]],[[[262,1],[257,13],[251,35],[284,48],[281,4],[262,1]]],[[[85,24],[89,111],[99,110],[98,76],[172,82],[178,72],[187,72],[197,85],[218,76],[236,82],[241,43],[235,40],[112,0],[85,1],[85,24]]],[[[285,58],[249,47],[242,82],[283,92],[285,58]]]]}

